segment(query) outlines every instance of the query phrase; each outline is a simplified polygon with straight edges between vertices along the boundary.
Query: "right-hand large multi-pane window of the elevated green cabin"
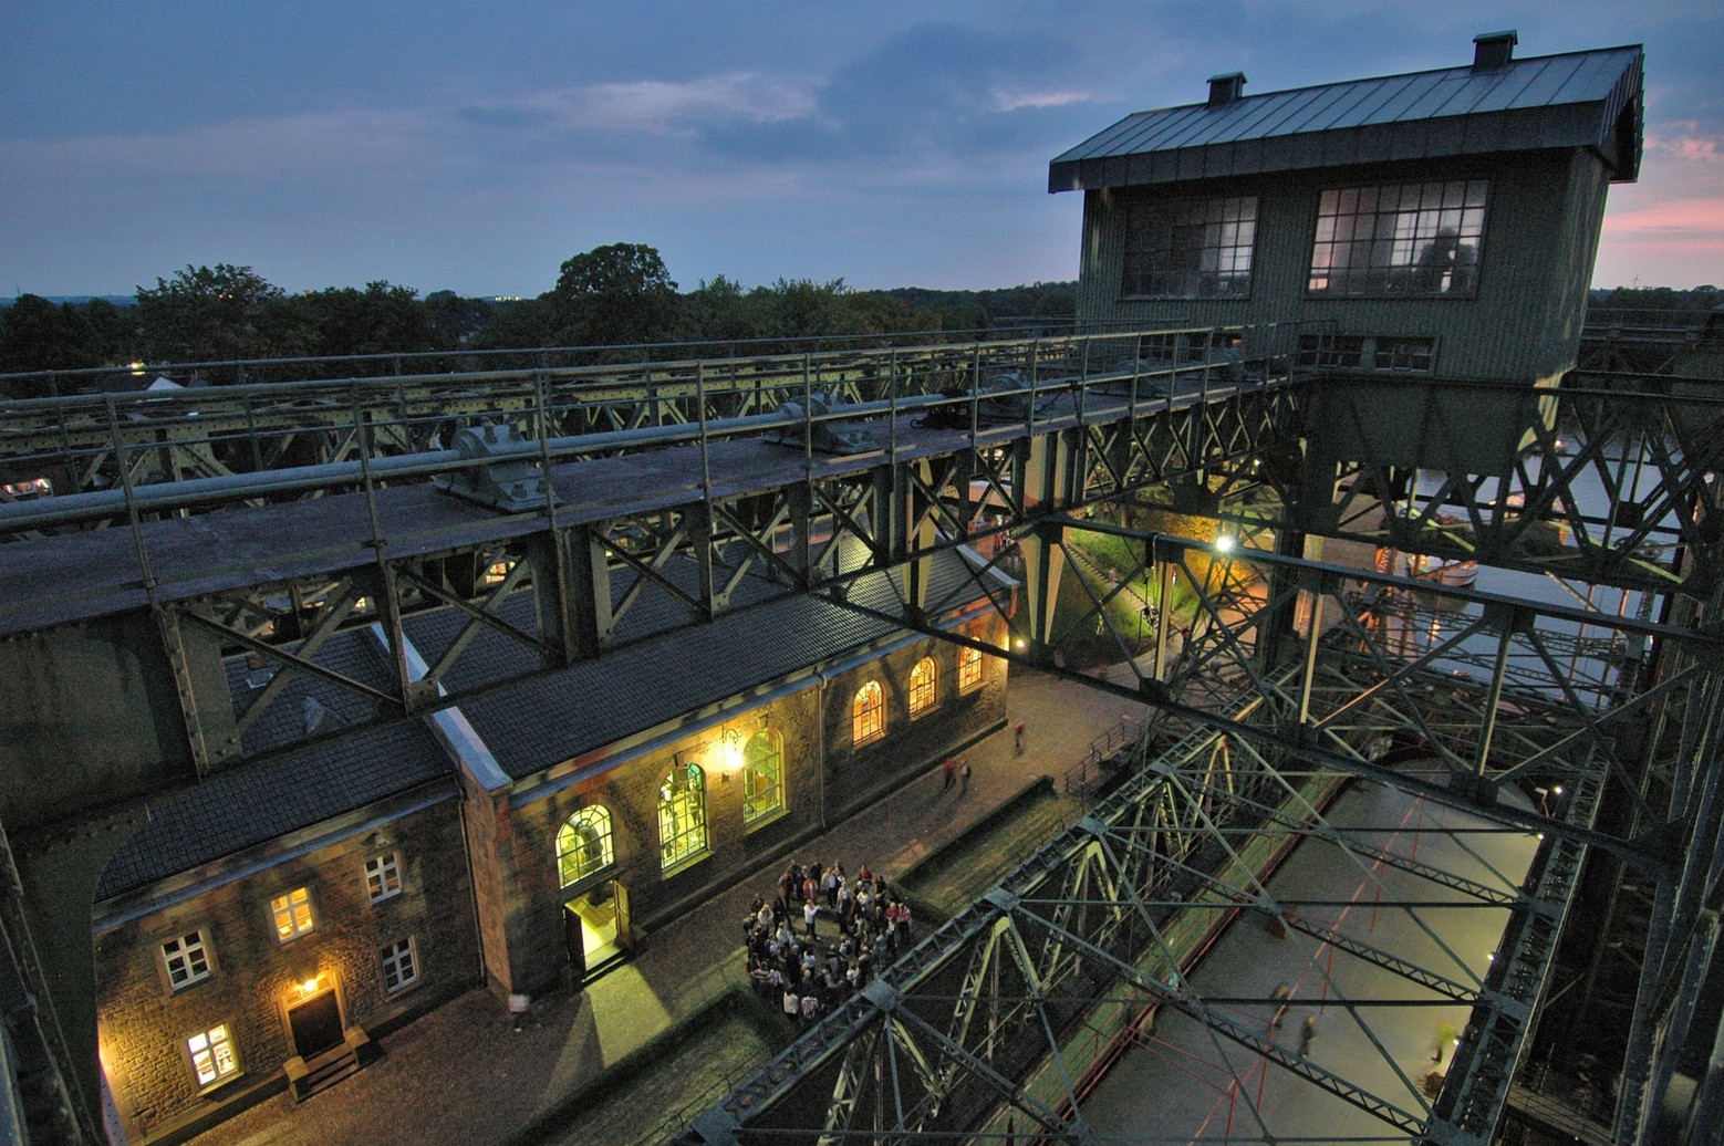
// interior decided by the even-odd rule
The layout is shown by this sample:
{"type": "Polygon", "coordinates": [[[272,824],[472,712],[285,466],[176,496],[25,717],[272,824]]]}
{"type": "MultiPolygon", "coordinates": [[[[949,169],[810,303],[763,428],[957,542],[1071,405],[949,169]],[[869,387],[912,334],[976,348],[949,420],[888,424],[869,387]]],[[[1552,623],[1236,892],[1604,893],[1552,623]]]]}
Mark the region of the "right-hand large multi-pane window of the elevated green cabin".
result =
{"type": "Polygon", "coordinates": [[[1484,179],[1333,188],[1317,198],[1312,295],[1472,295],[1484,241],[1484,179]]]}

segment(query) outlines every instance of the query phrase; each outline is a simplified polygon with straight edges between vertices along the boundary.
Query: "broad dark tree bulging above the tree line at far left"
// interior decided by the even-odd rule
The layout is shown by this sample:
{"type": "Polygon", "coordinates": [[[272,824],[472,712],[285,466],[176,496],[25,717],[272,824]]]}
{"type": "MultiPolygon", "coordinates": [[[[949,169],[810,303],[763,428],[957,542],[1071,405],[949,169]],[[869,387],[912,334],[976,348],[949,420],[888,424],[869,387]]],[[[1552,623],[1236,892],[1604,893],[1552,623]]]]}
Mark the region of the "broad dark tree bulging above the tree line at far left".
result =
{"type": "Polygon", "coordinates": [[[138,288],[138,329],[153,362],[262,358],[274,353],[264,338],[264,310],[279,286],[252,271],[219,262],[186,265],[155,288],[138,288]]]}

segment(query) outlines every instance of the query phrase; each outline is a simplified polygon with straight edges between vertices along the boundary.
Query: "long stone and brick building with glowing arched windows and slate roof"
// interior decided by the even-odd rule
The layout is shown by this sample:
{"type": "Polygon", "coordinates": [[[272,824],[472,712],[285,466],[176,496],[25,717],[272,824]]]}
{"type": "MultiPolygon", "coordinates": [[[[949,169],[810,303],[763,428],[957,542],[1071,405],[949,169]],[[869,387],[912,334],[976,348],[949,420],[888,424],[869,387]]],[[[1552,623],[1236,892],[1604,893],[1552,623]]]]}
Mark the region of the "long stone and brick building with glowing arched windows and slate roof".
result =
{"type": "MultiPolygon", "coordinates": [[[[986,596],[1010,584],[974,569],[938,558],[928,615],[1000,646],[986,596]]],[[[850,598],[900,591],[872,576],[850,598]]],[[[312,676],[231,662],[236,696],[288,703],[247,729],[247,763],[153,812],[98,888],[100,1049],[126,1136],[178,1141],[284,1086],[331,1084],[374,1036],[476,982],[500,1006],[578,986],[1003,724],[1000,658],[767,582],[740,603],[695,627],[643,610],[648,636],[612,655],[383,726],[312,676]],[[321,738],[290,746],[307,731],[321,738]]],[[[410,655],[471,641],[460,684],[533,655],[460,626],[409,619],[410,655]]],[[[365,679],[379,648],[353,629],[315,658],[365,679]]]]}

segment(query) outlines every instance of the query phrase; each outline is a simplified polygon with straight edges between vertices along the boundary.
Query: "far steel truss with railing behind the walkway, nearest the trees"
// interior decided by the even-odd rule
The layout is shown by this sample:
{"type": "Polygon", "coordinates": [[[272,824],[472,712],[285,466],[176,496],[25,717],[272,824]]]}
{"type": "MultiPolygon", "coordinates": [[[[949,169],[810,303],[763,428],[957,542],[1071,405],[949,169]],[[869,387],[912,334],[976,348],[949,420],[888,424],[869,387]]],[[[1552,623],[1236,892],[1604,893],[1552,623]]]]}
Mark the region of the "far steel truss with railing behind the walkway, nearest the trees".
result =
{"type": "MultiPolygon", "coordinates": [[[[772,414],[810,395],[855,403],[1010,389],[1012,379],[1100,377],[1121,364],[1131,364],[1127,374],[1140,374],[1143,396],[1152,396],[1164,381],[1159,367],[1231,353],[1245,329],[733,352],[700,360],[19,400],[0,408],[0,500],[34,496],[19,489],[34,479],[66,495],[331,465],[360,452],[424,453],[447,448],[455,431],[479,419],[536,441],[705,426],[772,414]]],[[[1243,369],[1238,357],[1219,367],[1243,369]]]]}

